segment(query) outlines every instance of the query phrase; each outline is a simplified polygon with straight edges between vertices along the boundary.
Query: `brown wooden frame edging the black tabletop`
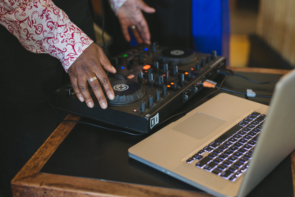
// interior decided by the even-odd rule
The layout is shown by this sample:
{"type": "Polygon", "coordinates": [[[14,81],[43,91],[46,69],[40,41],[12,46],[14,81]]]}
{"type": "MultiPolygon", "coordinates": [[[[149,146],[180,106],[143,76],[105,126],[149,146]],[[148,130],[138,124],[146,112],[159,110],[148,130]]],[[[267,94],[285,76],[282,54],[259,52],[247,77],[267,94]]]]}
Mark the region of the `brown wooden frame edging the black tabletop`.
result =
{"type": "MultiPolygon", "coordinates": [[[[233,71],[286,74],[289,70],[230,68],[233,71]]],[[[67,120],[81,117],[68,115],[67,120]]],[[[76,123],[62,122],[11,181],[14,196],[211,196],[148,185],[121,183],[40,172],[76,123]]],[[[295,151],[291,153],[293,191],[295,191],[295,151]]]]}

